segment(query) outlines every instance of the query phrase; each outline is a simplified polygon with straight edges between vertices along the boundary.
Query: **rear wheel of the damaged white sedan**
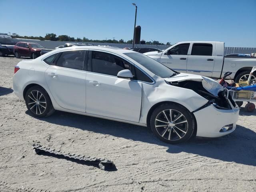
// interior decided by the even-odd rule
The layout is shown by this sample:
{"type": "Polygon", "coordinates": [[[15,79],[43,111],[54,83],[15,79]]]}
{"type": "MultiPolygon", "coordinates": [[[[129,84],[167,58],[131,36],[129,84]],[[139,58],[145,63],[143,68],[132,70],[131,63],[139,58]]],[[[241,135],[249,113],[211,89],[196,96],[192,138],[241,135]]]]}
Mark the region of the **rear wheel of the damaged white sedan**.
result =
{"type": "Polygon", "coordinates": [[[25,102],[28,111],[35,117],[47,117],[55,111],[48,93],[40,86],[33,86],[27,90],[25,102]]]}

